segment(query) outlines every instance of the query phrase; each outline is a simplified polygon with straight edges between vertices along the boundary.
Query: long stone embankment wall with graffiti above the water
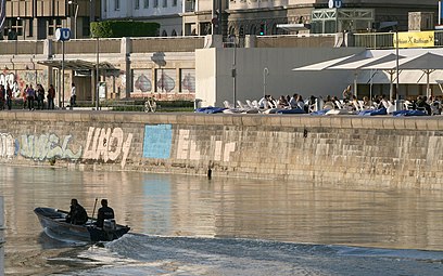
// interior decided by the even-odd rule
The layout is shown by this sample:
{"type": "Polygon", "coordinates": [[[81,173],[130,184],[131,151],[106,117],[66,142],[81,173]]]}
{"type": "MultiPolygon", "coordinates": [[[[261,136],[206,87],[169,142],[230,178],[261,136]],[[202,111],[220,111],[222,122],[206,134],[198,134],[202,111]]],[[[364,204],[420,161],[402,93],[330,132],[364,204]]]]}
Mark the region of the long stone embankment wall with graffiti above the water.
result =
{"type": "Polygon", "coordinates": [[[443,120],[2,111],[0,160],[358,186],[442,189],[443,120]]]}

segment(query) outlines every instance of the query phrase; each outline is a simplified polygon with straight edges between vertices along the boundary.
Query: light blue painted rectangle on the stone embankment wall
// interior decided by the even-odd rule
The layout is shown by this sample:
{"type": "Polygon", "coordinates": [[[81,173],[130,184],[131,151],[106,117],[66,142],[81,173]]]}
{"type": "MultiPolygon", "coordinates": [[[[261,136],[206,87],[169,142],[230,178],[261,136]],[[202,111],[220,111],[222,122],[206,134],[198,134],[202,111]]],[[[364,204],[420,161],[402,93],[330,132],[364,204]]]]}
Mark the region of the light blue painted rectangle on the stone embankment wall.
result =
{"type": "Polygon", "coordinates": [[[168,159],[173,144],[173,126],[144,126],[143,157],[168,159]]]}

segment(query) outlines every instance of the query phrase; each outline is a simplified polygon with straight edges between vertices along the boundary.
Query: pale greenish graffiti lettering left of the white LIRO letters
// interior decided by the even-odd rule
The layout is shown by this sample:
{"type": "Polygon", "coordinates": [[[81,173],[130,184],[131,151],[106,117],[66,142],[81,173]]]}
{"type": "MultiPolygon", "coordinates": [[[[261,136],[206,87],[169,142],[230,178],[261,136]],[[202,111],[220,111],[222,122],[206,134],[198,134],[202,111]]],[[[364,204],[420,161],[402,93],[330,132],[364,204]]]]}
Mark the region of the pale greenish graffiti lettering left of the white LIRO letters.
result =
{"type": "Polygon", "coordinates": [[[60,144],[60,137],[55,134],[22,135],[20,154],[25,158],[37,160],[60,158],[77,160],[81,157],[81,146],[76,154],[68,148],[72,135],[66,135],[60,144]]]}

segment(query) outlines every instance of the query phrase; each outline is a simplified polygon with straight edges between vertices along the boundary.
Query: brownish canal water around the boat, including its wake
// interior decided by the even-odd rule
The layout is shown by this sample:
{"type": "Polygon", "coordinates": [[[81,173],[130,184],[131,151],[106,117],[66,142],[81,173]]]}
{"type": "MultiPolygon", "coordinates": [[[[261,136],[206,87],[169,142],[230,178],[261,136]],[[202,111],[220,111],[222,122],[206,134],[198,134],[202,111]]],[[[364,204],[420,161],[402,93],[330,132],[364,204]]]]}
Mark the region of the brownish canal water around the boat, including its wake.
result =
{"type": "Polygon", "coordinates": [[[0,194],[5,275],[443,275],[441,190],[3,165],[0,194]],[[34,208],[71,198],[131,234],[48,237],[34,208]]]}

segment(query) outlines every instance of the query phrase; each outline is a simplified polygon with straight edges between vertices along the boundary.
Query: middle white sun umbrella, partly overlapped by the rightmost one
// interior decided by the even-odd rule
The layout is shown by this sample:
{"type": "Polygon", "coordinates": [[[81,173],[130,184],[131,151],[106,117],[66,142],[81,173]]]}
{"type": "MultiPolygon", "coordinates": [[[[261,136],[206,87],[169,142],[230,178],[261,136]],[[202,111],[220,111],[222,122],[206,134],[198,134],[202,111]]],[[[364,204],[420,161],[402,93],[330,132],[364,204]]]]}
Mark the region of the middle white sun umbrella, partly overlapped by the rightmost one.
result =
{"type": "MultiPolygon", "coordinates": [[[[363,69],[364,67],[370,67],[377,64],[382,64],[391,61],[396,61],[397,55],[393,53],[385,53],[379,56],[374,56],[369,58],[364,58],[355,62],[349,62],[344,64],[339,64],[334,66],[330,66],[328,69],[338,69],[338,70],[354,70],[354,93],[357,96],[357,76],[358,70],[363,69]]],[[[398,56],[398,58],[404,58],[404,56],[398,56]]],[[[392,82],[392,81],[391,81],[392,82]]]]}

